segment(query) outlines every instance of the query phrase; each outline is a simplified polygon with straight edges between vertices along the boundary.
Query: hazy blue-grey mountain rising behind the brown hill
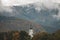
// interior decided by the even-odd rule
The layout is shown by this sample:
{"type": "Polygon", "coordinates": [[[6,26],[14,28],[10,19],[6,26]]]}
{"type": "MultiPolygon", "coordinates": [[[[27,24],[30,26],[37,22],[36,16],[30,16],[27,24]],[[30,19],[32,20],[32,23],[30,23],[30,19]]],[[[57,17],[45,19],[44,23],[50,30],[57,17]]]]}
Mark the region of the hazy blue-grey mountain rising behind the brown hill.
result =
{"type": "MultiPolygon", "coordinates": [[[[48,32],[54,32],[54,31],[58,30],[60,28],[59,27],[60,22],[59,22],[59,20],[57,20],[57,18],[54,18],[53,15],[58,15],[58,13],[59,13],[58,5],[59,4],[57,4],[56,7],[54,7],[55,4],[52,6],[49,6],[49,7],[46,7],[46,5],[42,5],[42,4],[40,6],[39,5],[37,6],[37,4],[36,5],[29,4],[29,5],[24,5],[24,6],[13,6],[11,8],[11,10],[13,10],[12,12],[4,11],[1,13],[2,14],[1,16],[6,16],[7,18],[2,17],[3,19],[0,18],[0,20],[4,21],[4,22],[2,21],[4,25],[10,26],[10,27],[8,27],[8,29],[9,28],[13,29],[10,25],[11,24],[10,22],[12,22],[13,24],[14,23],[16,24],[16,22],[19,23],[19,20],[14,19],[14,17],[16,17],[18,19],[23,19],[23,20],[29,21],[29,22],[27,22],[27,24],[32,22],[33,24],[35,24],[35,26],[42,25],[42,28],[44,29],[44,31],[46,30],[48,32]],[[58,6],[58,8],[57,8],[57,6],[58,6]],[[12,15],[12,17],[11,17],[11,15],[12,15]],[[12,19],[14,19],[15,21],[12,19]],[[6,22],[6,24],[5,24],[5,22],[6,22]],[[9,25],[7,25],[7,24],[9,24],[9,25]]],[[[32,23],[30,23],[30,24],[32,24],[32,23]]],[[[25,25],[25,24],[23,24],[23,25],[25,25]]],[[[18,28],[15,27],[15,29],[18,29],[18,28]]],[[[39,30],[40,29],[41,28],[39,28],[39,30]]]]}

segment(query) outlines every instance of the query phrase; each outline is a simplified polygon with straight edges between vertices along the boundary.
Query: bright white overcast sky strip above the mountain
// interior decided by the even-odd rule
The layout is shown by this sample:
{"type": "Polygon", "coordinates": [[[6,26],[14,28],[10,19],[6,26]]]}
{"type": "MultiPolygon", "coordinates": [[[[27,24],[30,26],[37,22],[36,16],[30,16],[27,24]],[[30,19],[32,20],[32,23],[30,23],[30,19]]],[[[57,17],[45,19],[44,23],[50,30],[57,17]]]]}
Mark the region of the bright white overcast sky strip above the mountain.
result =
{"type": "Polygon", "coordinates": [[[60,3],[60,0],[1,0],[1,3],[4,6],[13,6],[13,5],[25,5],[35,2],[56,2],[60,3]]]}

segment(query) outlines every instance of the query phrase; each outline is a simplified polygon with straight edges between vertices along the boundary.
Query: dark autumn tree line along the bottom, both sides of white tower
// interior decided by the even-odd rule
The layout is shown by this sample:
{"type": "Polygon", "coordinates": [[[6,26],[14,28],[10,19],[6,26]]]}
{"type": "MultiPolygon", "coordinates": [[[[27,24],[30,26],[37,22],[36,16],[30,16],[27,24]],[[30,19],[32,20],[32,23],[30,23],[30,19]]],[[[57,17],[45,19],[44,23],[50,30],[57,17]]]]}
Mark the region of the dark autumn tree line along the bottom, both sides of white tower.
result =
{"type": "Polygon", "coordinates": [[[54,33],[38,32],[32,39],[26,31],[0,32],[0,40],[60,40],[60,30],[54,33]]]}

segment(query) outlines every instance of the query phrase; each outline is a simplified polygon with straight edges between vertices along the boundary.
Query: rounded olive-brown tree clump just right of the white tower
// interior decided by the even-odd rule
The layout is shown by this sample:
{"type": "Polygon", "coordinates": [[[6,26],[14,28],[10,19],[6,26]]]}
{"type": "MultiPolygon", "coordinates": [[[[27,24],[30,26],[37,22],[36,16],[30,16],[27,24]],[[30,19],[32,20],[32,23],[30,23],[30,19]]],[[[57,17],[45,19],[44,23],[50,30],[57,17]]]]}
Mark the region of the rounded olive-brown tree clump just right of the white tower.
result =
{"type": "Polygon", "coordinates": [[[51,34],[48,34],[46,32],[39,32],[36,35],[34,35],[32,40],[51,40],[50,37],[51,34]]]}

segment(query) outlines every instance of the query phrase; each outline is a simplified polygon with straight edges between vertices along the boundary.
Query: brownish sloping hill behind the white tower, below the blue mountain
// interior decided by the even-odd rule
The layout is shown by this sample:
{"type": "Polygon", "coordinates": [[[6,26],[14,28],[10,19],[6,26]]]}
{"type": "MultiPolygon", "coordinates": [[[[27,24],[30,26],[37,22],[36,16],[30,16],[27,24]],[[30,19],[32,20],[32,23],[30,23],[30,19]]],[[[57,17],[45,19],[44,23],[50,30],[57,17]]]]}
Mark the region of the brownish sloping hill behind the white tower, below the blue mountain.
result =
{"type": "Polygon", "coordinates": [[[0,16],[0,32],[21,30],[28,32],[30,27],[32,27],[35,32],[45,31],[39,24],[14,17],[0,16]]]}

